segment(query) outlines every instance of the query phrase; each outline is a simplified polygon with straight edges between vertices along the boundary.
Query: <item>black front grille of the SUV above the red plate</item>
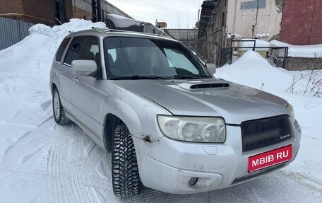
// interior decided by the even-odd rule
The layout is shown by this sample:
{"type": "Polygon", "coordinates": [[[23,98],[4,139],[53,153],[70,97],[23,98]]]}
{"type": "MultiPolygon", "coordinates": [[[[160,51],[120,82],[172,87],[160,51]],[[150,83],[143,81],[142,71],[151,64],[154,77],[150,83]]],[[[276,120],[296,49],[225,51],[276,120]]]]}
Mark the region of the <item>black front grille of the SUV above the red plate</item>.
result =
{"type": "Polygon", "coordinates": [[[293,136],[291,120],[287,115],[241,123],[243,151],[277,144],[293,136]]]}

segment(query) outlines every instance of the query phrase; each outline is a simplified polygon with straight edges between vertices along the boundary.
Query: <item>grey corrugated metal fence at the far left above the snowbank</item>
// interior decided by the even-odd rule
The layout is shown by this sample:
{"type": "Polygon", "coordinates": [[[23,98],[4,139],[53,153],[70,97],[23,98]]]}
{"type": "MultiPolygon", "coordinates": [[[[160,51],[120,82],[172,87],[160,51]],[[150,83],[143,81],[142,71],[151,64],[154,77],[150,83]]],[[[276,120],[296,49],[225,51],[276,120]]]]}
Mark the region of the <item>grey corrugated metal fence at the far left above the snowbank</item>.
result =
{"type": "Polygon", "coordinates": [[[10,18],[0,18],[0,50],[20,42],[29,35],[29,28],[34,25],[10,18]]]}

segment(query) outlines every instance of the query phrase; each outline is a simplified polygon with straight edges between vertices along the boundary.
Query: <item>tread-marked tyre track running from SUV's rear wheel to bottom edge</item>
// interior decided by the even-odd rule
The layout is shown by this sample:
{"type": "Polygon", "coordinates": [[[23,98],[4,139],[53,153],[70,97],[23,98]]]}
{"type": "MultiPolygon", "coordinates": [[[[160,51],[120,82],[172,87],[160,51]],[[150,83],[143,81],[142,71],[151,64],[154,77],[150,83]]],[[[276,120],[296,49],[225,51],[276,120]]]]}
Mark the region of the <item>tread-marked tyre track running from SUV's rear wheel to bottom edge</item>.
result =
{"type": "Polygon", "coordinates": [[[50,163],[52,166],[50,173],[53,178],[49,184],[54,193],[54,202],[85,202],[84,199],[88,199],[84,197],[85,192],[78,192],[79,183],[75,178],[78,170],[75,170],[74,165],[79,158],[78,149],[81,148],[78,145],[78,138],[83,132],[80,129],[75,131],[74,128],[73,125],[61,127],[55,124],[54,126],[56,139],[50,163]]]}

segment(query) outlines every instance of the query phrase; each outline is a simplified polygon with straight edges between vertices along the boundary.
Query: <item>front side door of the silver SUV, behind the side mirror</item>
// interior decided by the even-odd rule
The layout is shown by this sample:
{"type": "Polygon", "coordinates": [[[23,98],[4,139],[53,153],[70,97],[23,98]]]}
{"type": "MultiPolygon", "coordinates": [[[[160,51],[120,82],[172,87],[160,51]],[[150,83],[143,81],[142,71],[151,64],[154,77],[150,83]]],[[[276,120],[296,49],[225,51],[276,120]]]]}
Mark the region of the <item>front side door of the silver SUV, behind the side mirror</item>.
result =
{"type": "MultiPolygon", "coordinates": [[[[79,59],[93,60],[97,63],[97,74],[95,76],[73,75],[71,85],[71,100],[73,103],[73,115],[83,125],[88,127],[94,134],[102,134],[102,127],[99,123],[100,103],[103,95],[100,91],[102,85],[102,75],[100,71],[100,47],[98,37],[83,37],[83,50],[79,59]]],[[[100,141],[101,138],[95,141],[100,141]]]]}

